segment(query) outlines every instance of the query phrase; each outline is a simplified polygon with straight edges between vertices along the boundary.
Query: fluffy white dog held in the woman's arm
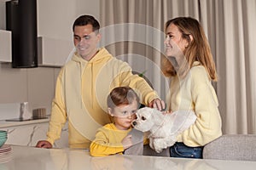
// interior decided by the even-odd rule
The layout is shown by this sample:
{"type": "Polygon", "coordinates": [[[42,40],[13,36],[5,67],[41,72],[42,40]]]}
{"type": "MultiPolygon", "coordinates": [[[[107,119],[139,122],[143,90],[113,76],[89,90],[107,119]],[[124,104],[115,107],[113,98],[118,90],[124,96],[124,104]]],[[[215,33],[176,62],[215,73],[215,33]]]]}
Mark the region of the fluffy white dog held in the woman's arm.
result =
{"type": "Polygon", "coordinates": [[[189,128],[196,119],[194,111],[163,114],[149,107],[139,109],[136,115],[137,119],[132,122],[132,126],[139,131],[149,132],[149,145],[158,153],[175,144],[177,134],[189,128]]]}

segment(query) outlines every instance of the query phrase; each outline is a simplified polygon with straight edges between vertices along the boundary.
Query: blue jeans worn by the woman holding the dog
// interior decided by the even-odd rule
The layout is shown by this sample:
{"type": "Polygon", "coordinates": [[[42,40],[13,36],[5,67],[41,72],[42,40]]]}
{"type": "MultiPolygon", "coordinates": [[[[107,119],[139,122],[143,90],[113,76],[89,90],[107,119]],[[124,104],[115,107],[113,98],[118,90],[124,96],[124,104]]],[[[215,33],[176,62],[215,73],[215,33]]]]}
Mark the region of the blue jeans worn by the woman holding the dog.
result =
{"type": "Polygon", "coordinates": [[[171,157],[202,158],[203,146],[189,147],[182,142],[177,142],[170,148],[171,157]]]}

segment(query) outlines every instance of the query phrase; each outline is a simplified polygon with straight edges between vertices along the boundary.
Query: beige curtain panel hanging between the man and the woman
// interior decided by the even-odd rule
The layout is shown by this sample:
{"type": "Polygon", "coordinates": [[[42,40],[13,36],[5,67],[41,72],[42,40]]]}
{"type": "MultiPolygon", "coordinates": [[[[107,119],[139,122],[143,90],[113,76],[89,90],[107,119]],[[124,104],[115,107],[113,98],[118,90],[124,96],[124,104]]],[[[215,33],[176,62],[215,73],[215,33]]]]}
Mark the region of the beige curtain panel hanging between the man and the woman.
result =
{"type": "Polygon", "coordinates": [[[144,72],[161,99],[166,99],[169,82],[160,71],[164,23],[179,15],[198,19],[198,8],[197,0],[102,0],[101,46],[127,61],[133,71],[144,72]]]}

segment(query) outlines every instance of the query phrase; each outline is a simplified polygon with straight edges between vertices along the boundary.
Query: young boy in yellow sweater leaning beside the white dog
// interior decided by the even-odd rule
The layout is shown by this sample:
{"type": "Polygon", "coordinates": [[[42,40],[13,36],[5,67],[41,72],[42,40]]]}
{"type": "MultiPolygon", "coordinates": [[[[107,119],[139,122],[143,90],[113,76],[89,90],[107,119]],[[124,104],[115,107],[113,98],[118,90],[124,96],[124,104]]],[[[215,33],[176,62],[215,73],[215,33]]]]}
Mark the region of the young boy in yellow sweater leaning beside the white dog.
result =
{"type": "Polygon", "coordinates": [[[129,87],[113,88],[107,102],[108,114],[113,117],[113,123],[98,129],[96,138],[90,144],[91,156],[123,154],[134,144],[132,135],[128,133],[131,132],[131,122],[136,118],[139,107],[137,94],[129,87]]]}

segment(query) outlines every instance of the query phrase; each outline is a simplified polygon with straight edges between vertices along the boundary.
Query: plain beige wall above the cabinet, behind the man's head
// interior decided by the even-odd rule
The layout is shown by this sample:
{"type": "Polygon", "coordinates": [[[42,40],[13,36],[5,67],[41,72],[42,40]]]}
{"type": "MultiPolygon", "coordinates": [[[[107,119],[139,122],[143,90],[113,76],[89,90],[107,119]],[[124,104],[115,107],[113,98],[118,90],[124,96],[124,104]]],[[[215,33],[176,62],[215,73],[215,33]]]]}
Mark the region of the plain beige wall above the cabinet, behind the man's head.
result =
{"type": "Polygon", "coordinates": [[[99,0],[38,0],[38,36],[71,40],[80,14],[99,17],[99,0]]]}

